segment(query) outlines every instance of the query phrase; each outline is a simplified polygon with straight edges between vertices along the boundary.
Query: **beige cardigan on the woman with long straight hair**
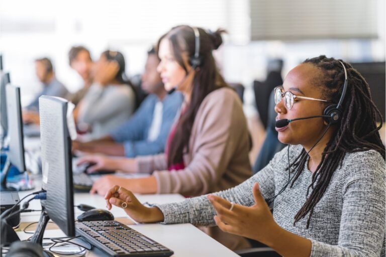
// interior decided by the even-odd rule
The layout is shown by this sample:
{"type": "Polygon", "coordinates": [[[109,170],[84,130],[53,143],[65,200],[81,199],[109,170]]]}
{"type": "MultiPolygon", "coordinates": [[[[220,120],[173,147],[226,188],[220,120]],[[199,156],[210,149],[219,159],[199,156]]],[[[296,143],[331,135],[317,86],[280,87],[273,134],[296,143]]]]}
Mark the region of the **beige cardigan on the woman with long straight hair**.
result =
{"type": "Polygon", "coordinates": [[[152,173],[157,193],[196,196],[234,187],[251,176],[247,122],[230,88],[208,94],[197,112],[183,156],[185,169],[167,171],[165,154],[136,158],[137,171],[152,173]]]}

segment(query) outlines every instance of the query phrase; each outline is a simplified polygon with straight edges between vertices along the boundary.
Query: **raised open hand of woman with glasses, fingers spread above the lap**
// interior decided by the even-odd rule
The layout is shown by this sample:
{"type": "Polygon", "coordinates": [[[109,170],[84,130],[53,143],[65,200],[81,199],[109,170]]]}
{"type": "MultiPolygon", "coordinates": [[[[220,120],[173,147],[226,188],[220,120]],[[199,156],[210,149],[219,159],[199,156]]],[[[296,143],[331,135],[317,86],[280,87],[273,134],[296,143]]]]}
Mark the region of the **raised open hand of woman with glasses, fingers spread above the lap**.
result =
{"type": "Polygon", "coordinates": [[[259,185],[252,189],[255,204],[247,207],[234,204],[215,195],[208,195],[209,201],[216,210],[216,224],[224,232],[245,236],[267,244],[268,235],[277,227],[267,203],[261,196],[259,185]]]}

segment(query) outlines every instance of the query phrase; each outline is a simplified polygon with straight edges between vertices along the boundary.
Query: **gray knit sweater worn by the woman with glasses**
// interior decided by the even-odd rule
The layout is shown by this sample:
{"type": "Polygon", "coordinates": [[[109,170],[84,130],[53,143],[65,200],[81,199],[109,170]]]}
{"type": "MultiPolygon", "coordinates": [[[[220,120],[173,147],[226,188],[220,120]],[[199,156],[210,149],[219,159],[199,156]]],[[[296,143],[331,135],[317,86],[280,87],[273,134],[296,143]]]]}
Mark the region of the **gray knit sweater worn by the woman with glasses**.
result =
{"type": "MultiPolygon", "coordinates": [[[[301,150],[301,146],[291,146],[291,163],[301,150]]],[[[277,224],[311,239],[311,256],[384,256],[385,162],[381,155],[373,150],[345,155],[316,205],[308,229],[308,215],[294,225],[294,217],[305,203],[312,179],[307,163],[294,186],[288,186],[272,203],[277,224]]],[[[216,195],[251,206],[254,204],[252,187],[259,182],[263,197],[268,199],[286,184],[287,165],[287,148],[284,148],[256,175],[216,195]]],[[[156,206],[163,212],[165,224],[215,224],[216,213],[206,196],[156,206]]]]}

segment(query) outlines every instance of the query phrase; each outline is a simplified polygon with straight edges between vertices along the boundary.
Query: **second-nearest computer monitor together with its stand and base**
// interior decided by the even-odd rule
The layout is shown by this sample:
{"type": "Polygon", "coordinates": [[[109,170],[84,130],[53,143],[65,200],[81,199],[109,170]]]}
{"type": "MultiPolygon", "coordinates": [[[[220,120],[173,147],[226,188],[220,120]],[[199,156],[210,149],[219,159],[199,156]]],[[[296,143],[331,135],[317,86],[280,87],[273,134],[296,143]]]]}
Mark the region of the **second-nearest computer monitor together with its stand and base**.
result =
{"type": "Polygon", "coordinates": [[[32,187],[28,184],[12,187],[7,184],[7,175],[11,166],[15,166],[21,173],[26,171],[24,160],[24,137],[23,137],[23,121],[22,121],[22,106],[20,103],[20,88],[7,84],[7,116],[9,117],[9,139],[10,149],[7,155],[7,162],[4,166],[1,180],[1,191],[19,191],[30,190],[32,187]]]}

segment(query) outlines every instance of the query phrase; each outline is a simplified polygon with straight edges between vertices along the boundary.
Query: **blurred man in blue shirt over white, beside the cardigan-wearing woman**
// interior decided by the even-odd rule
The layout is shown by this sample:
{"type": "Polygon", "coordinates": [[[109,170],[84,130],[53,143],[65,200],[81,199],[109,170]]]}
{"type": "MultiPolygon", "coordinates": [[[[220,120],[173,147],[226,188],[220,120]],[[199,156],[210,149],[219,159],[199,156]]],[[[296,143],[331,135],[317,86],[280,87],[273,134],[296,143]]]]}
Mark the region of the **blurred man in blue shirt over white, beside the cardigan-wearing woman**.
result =
{"type": "Polygon", "coordinates": [[[73,150],[102,153],[112,156],[135,157],[162,153],[170,127],[174,122],[183,96],[179,92],[167,94],[157,66],[154,49],[148,52],[142,89],[149,93],[134,115],[109,135],[90,142],[74,141],[73,150]]]}

